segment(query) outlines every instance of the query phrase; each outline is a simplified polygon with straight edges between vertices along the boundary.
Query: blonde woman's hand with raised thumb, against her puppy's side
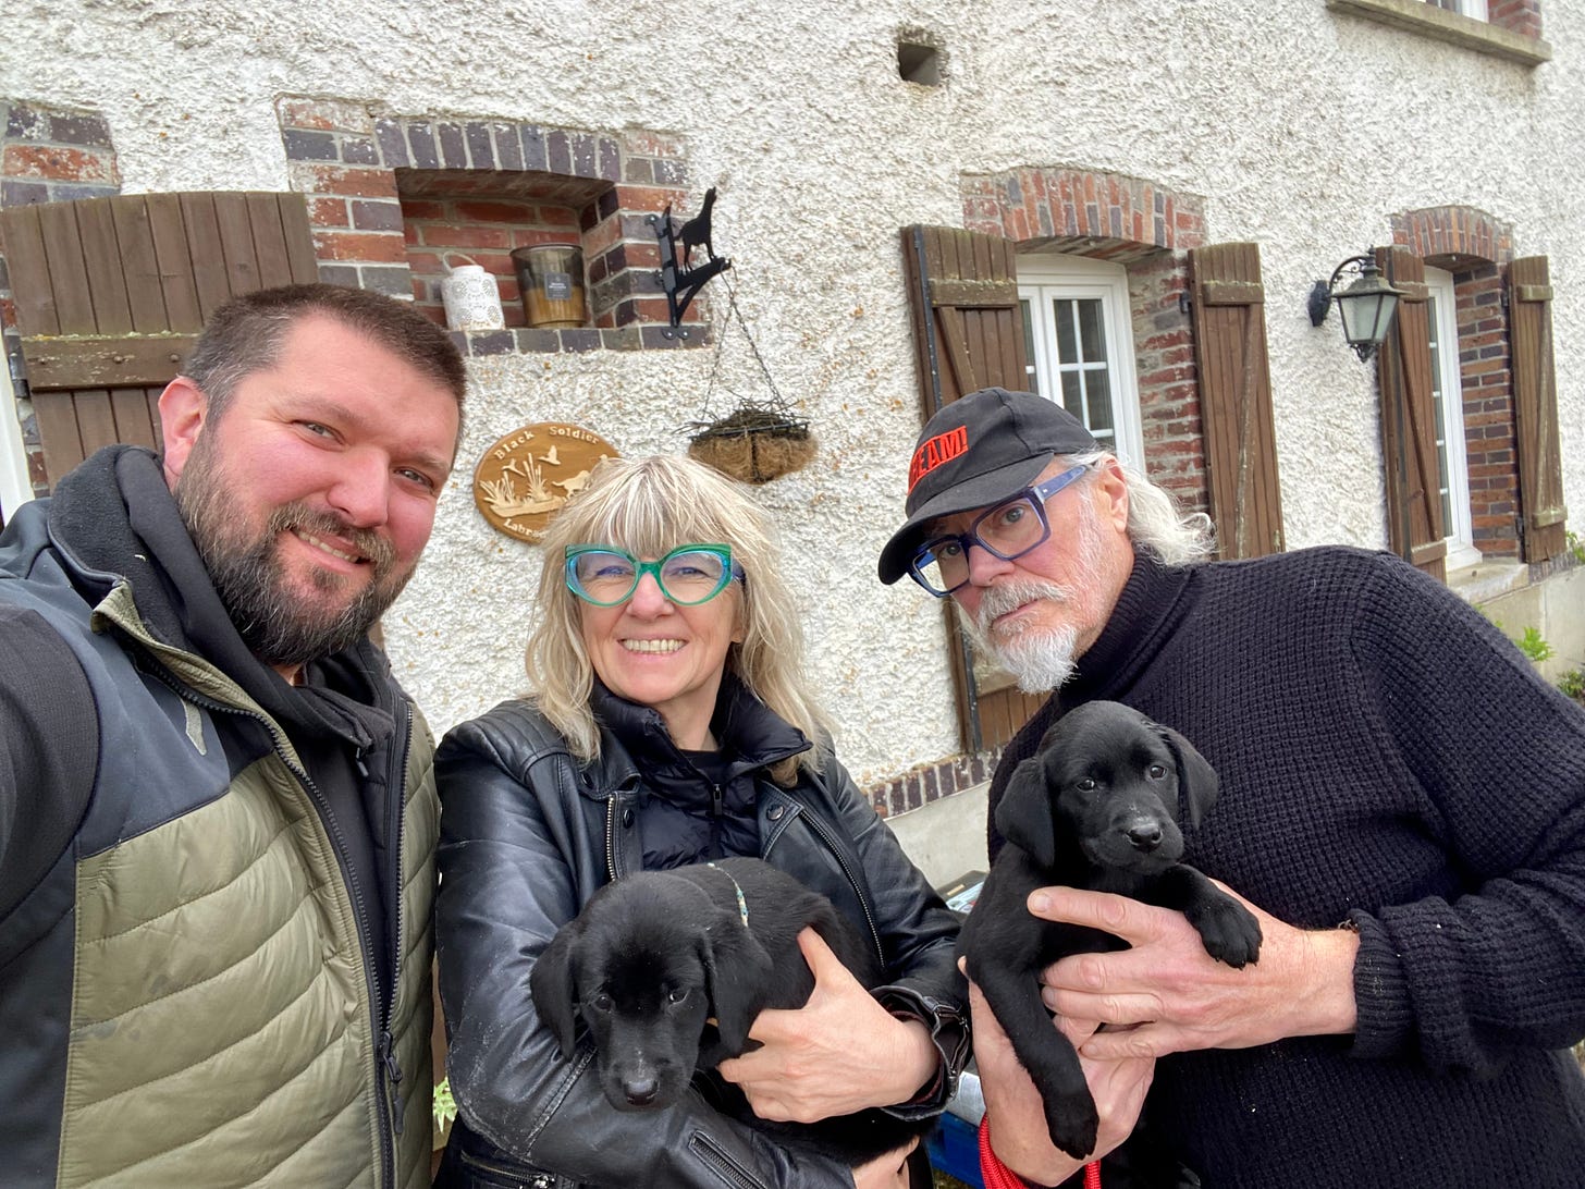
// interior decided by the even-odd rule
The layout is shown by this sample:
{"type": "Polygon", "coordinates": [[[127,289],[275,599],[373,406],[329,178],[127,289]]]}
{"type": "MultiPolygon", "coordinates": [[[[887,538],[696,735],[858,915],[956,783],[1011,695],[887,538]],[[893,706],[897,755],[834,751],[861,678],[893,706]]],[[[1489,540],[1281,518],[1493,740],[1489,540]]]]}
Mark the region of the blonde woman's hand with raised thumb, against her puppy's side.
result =
{"type": "Polygon", "coordinates": [[[897,1019],[813,929],[797,937],[815,991],[796,1010],[761,1011],[748,1035],[762,1048],[718,1065],[761,1119],[815,1122],[908,1102],[938,1054],[916,1019],[897,1019]]]}

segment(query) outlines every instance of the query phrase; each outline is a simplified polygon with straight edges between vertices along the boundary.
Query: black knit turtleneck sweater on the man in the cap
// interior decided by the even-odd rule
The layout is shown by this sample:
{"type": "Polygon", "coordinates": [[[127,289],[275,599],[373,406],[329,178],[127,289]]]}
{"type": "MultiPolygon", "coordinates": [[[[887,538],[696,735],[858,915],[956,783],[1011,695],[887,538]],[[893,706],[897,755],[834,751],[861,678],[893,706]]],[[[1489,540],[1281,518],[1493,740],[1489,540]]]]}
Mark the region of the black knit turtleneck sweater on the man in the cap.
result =
{"type": "MultiPolygon", "coordinates": [[[[1585,713],[1385,553],[1163,568],[1008,745],[1116,699],[1220,796],[1187,859],[1278,918],[1360,929],[1354,1037],[1163,1059],[1159,1135],[1206,1189],[1585,1186],[1585,713]]],[[[991,853],[1000,847],[994,826],[991,853]]]]}

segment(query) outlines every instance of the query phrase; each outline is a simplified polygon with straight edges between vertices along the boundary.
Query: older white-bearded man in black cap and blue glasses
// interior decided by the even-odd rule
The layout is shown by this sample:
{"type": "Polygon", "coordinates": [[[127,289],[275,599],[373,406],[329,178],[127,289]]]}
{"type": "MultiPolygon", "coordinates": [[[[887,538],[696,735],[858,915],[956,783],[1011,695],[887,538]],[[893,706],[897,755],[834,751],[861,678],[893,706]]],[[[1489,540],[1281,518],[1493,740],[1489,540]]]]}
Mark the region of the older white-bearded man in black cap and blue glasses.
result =
{"type": "MultiPolygon", "coordinates": [[[[1255,902],[1257,964],[1214,962],[1163,908],[1030,896],[1130,946],[1043,973],[1102,1111],[1094,1156],[1149,1089],[1157,1141],[1220,1189],[1585,1184],[1566,1051],[1585,1035],[1585,715],[1398,558],[1198,564],[1208,530],[1062,407],[987,388],[924,426],[880,560],[1051,691],[997,766],[992,858],[1013,769],[1083,702],[1181,731],[1219,774],[1187,858],[1255,902]]],[[[972,1002],[987,1159],[1076,1178],[972,1002]]]]}

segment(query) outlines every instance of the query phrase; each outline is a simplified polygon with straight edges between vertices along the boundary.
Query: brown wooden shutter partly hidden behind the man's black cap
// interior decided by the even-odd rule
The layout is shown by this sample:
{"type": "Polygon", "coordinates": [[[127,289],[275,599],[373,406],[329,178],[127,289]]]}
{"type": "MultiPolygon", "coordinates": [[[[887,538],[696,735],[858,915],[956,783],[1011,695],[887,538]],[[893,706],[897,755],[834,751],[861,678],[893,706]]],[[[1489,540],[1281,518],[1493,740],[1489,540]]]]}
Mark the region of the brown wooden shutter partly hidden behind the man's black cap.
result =
{"type": "MultiPolygon", "coordinates": [[[[1029,390],[1013,241],[953,227],[905,227],[902,250],[924,420],[980,388],[1029,390]]],[[[953,677],[964,748],[1002,747],[1045,696],[1022,693],[984,658],[976,658],[957,620],[957,604],[953,599],[943,604],[954,640],[953,677]]]]}

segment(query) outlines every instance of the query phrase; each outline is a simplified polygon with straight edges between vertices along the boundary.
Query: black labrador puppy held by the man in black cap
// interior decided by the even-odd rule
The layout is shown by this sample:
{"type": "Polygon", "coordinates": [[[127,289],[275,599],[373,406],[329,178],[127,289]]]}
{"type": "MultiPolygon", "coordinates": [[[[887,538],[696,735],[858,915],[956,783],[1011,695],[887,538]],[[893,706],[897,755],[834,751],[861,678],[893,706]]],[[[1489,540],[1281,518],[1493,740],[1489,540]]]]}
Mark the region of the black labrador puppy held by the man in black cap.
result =
{"type": "MultiPolygon", "coordinates": [[[[1233,967],[1257,961],[1254,915],[1179,861],[1179,815],[1198,826],[1214,799],[1216,772],[1187,739],[1121,702],[1087,702],[1046,731],[997,804],[995,826],[1006,845],[964,923],[957,951],[1040,1089],[1051,1141],[1075,1159],[1094,1151],[1100,1119],[1078,1053],[1040,999],[1040,972],[1059,958],[1122,950],[1125,942],[1041,921],[1025,900],[1049,885],[1117,893],[1182,912],[1217,961],[1233,967]]],[[[1157,1183],[1157,1173],[1140,1172],[1143,1157],[1132,1164],[1132,1181],[1157,1183]]]]}

